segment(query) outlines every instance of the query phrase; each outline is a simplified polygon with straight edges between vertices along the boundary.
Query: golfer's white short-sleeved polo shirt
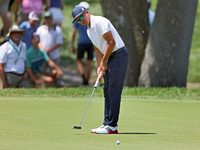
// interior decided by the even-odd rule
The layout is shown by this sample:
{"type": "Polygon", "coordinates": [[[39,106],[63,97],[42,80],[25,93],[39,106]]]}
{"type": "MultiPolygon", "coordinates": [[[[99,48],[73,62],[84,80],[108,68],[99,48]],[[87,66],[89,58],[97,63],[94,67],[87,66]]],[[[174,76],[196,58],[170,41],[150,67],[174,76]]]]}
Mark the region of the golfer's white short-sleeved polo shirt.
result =
{"type": "Polygon", "coordinates": [[[101,51],[102,54],[105,53],[107,45],[107,41],[103,38],[103,35],[109,31],[111,31],[116,43],[113,52],[124,47],[124,42],[108,19],[101,16],[90,15],[90,28],[88,27],[87,34],[92,43],[101,51]]]}

